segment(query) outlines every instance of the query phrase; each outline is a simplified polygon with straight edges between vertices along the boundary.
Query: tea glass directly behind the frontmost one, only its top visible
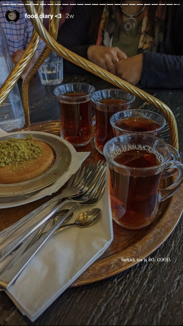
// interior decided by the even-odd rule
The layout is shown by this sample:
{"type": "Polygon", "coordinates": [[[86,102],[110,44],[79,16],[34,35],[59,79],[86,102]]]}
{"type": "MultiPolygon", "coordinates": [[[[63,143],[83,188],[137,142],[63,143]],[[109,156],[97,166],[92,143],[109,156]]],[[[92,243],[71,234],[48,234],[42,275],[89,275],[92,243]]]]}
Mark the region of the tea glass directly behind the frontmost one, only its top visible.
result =
{"type": "Polygon", "coordinates": [[[114,137],[135,132],[159,137],[166,120],[158,113],[135,109],[115,113],[110,123],[114,137]]]}

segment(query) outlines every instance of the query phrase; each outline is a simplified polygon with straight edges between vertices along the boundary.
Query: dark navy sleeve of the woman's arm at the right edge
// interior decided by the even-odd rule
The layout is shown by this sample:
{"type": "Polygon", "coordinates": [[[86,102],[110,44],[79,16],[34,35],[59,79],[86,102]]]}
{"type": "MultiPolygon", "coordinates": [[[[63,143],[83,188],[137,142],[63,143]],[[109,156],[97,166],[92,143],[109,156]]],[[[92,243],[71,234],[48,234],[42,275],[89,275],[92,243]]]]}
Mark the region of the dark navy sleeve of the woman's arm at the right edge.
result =
{"type": "Polygon", "coordinates": [[[179,6],[171,6],[171,50],[167,54],[143,53],[142,88],[183,88],[183,3],[177,2],[179,6]]]}

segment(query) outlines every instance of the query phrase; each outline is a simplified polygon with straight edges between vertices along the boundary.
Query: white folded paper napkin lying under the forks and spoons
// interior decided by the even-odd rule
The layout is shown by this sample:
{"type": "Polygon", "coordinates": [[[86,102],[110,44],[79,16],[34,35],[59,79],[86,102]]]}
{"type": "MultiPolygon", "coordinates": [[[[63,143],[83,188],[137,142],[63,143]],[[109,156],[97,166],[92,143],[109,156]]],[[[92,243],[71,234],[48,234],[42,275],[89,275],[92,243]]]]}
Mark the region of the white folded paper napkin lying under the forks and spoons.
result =
{"type": "MultiPolygon", "coordinates": [[[[106,185],[102,199],[95,205],[78,208],[69,223],[75,221],[80,212],[92,207],[102,209],[99,221],[88,228],[71,227],[52,235],[17,282],[5,290],[32,322],[111,244],[113,227],[108,171],[106,185]]],[[[0,268],[3,264],[1,262],[0,268]]]]}

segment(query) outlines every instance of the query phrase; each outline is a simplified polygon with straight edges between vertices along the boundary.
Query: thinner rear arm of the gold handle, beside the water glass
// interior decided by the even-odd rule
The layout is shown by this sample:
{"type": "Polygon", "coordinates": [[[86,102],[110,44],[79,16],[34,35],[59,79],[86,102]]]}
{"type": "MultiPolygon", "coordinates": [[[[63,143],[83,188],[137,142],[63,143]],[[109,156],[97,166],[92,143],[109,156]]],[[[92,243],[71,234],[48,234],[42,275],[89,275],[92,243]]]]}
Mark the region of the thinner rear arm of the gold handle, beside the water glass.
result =
{"type": "MultiPolygon", "coordinates": [[[[53,14],[53,19],[50,18],[49,20],[49,34],[56,39],[58,34],[58,26],[59,26],[59,20],[55,15],[57,15],[60,12],[60,7],[56,6],[54,7],[54,3],[58,3],[59,1],[50,1],[52,4],[50,8],[50,14],[53,14]]],[[[42,65],[44,60],[48,57],[52,49],[48,48],[47,45],[43,48],[41,53],[36,58],[33,66],[29,69],[28,73],[25,75],[23,79],[23,85],[22,85],[22,93],[23,93],[23,109],[24,109],[24,115],[25,115],[25,125],[30,126],[30,115],[29,115],[29,100],[28,100],[28,88],[29,88],[29,82],[32,79],[32,77],[35,75],[35,73],[38,71],[39,67],[42,65]]]]}

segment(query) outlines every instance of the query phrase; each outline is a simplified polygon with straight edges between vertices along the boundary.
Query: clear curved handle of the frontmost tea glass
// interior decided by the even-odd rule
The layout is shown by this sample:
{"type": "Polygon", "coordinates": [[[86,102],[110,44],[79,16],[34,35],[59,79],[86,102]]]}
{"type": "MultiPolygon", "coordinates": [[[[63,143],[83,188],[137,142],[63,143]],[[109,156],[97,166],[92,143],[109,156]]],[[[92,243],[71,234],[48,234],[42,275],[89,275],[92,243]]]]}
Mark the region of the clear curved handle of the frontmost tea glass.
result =
{"type": "Polygon", "coordinates": [[[166,164],[166,168],[177,169],[179,174],[178,174],[178,177],[176,178],[175,182],[172,185],[168,186],[165,189],[159,190],[160,201],[164,201],[167,198],[170,198],[173,194],[175,194],[175,192],[178,190],[180,185],[183,184],[183,164],[182,163],[180,163],[179,161],[169,161],[166,164]]]}

